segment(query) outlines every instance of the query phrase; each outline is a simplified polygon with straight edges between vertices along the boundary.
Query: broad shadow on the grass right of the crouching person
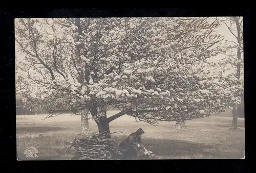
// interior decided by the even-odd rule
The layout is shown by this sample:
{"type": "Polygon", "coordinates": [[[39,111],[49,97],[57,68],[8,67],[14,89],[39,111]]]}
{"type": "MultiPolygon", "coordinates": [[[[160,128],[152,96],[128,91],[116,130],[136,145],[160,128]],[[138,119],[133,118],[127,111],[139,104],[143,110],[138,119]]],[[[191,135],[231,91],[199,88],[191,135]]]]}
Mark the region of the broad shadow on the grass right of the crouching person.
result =
{"type": "MultiPolygon", "coordinates": [[[[121,137],[113,137],[118,143],[121,137]]],[[[203,143],[192,143],[182,140],[143,138],[147,150],[152,151],[159,158],[175,159],[199,159],[199,158],[241,158],[244,149],[237,149],[237,153],[221,150],[220,145],[210,145],[203,143]],[[241,151],[240,151],[241,150],[241,151]]]]}

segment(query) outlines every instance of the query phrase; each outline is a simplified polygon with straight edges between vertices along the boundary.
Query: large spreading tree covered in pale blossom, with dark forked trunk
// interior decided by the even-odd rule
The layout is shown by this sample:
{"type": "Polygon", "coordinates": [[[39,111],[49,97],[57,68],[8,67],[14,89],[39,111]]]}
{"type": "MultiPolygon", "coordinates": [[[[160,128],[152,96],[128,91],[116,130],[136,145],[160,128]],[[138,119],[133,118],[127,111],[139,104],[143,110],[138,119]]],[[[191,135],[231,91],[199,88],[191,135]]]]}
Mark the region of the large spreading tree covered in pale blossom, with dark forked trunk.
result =
{"type": "Polygon", "coordinates": [[[17,51],[24,55],[19,69],[29,83],[22,92],[26,104],[51,113],[88,109],[99,133],[110,132],[109,123],[125,114],[154,124],[227,108],[230,87],[209,70],[216,65],[211,58],[225,53],[216,21],[80,18],[80,27],[77,21],[16,20],[17,51]],[[120,112],[107,117],[107,106],[120,112]]]}

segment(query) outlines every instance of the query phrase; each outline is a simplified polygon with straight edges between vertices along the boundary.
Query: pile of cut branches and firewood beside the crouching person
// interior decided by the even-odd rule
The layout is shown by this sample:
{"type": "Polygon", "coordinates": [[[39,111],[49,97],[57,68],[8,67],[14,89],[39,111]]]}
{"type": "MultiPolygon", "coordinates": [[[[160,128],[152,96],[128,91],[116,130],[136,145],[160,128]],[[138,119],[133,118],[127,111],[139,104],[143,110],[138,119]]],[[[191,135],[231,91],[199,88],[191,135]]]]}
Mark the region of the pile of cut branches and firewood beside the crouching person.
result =
{"type": "MultiPolygon", "coordinates": [[[[115,132],[118,133],[118,132],[115,132]]],[[[74,147],[75,155],[72,160],[118,160],[124,156],[116,147],[117,143],[113,139],[106,138],[106,133],[96,134],[90,137],[76,140],[68,147],[67,151],[74,147]]]]}

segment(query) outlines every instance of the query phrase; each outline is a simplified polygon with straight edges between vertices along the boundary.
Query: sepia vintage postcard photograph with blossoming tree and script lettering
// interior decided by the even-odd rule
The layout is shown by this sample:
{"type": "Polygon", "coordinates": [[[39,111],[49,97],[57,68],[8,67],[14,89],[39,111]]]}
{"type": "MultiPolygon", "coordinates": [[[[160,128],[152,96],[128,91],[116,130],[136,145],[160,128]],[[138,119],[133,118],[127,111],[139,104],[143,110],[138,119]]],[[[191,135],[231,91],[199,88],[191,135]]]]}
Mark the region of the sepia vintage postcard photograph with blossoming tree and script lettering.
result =
{"type": "Polygon", "coordinates": [[[18,161],[245,159],[243,17],[14,22],[18,161]]]}

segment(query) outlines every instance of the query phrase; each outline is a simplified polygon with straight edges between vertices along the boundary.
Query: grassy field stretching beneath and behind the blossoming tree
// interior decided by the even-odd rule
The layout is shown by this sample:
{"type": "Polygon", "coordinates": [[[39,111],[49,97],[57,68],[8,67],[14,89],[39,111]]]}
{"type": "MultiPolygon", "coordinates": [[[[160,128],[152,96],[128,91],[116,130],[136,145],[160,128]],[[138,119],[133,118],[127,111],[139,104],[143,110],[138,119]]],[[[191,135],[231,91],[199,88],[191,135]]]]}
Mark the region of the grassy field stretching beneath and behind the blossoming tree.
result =
{"type": "MultiPolygon", "coordinates": [[[[117,113],[109,111],[108,116],[117,113]]],[[[70,150],[63,154],[74,138],[81,138],[80,116],[59,115],[42,120],[47,115],[16,116],[17,153],[20,157],[32,146],[39,154],[29,160],[69,160],[70,150]],[[42,133],[42,136],[39,134],[42,133]]],[[[240,159],[244,158],[244,119],[238,119],[239,128],[231,129],[230,116],[211,116],[186,122],[187,130],[177,131],[174,122],[160,122],[152,126],[136,122],[134,118],[122,116],[110,124],[111,132],[118,143],[130,133],[142,128],[142,140],[147,150],[156,154],[156,159],[240,159]]],[[[90,120],[90,132],[97,133],[97,126],[90,120]]],[[[28,160],[28,159],[27,159],[28,160]]]]}

